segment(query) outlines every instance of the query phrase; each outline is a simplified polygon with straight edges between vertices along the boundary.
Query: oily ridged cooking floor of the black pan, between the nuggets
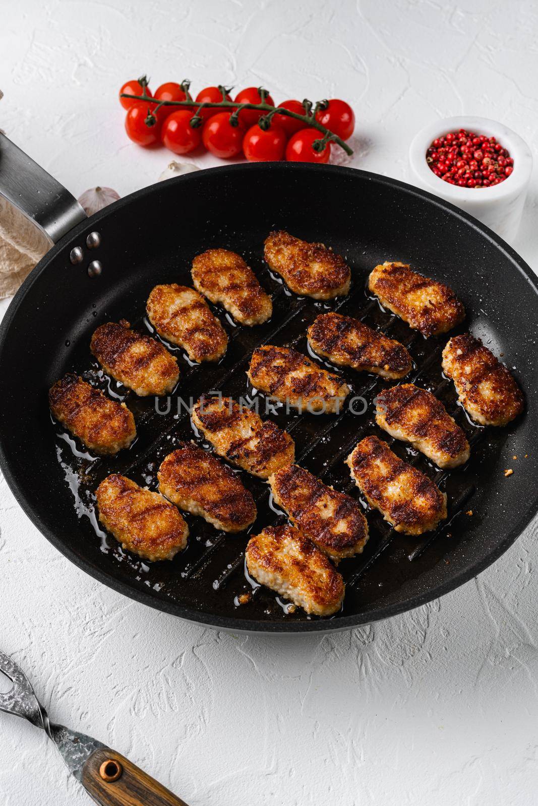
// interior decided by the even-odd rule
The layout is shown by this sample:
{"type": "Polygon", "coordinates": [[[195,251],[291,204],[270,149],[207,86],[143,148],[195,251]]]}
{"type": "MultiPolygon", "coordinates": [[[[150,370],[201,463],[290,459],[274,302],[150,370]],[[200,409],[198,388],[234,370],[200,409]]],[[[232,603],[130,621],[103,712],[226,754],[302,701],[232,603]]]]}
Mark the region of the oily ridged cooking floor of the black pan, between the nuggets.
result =
{"type": "MultiPolygon", "coordinates": [[[[196,432],[190,421],[189,413],[186,411],[186,405],[181,405],[179,408],[174,405],[177,396],[182,397],[186,389],[196,389],[194,401],[198,397],[199,390],[200,394],[202,392],[221,392],[224,396],[242,397],[252,405],[255,404],[256,395],[259,394],[261,398],[259,410],[265,417],[265,396],[257,393],[257,390],[253,390],[246,379],[246,369],[252,350],[261,343],[295,347],[309,355],[320,366],[344,376],[351,388],[348,401],[358,397],[368,403],[364,413],[350,414],[347,410],[347,401],[337,415],[316,415],[308,412],[284,414],[279,412],[279,408],[284,407],[277,405],[275,408],[269,403],[269,410],[273,408],[274,412],[272,415],[269,414],[269,418],[277,422],[279,426],[286,428],[296,440],[295,462],[307,467],[311,472],[315,472],[326,484],[332,484],[336,489],[356,496],[365,509],[370,532],[365,551],[356,558],[343,560],[339,566],[346,582],[346,597],[349,597],[352,596],[352,590],[359,590],[361,580],[371,571],[373,563],[383,561],[382,555],[388,554],[391,546],[394,549],[394,559],[399,558],[398,565],[405,566],[407,563],[418,560],[434,541],[443,536],[446,537],[447,533],[451,534],[451,529],[459,528],[457,518],[463,513],[464,505],[472,498],[474,485],[466,479],[465,469],[463,472],[441,472],[418,451],[402,446],[401,442],[398,443],[397,440],[375,426],[373,422],[375,397],[383,388],[389,388],[397,381],[383,380],[371,373],[336,367],[330,361],[315,355],[307,345],[307,327],[315,317],[327,310],[338,310],[343,314],[352,314],[392,338],[400,339],[411,351],[411,354],[415,352],[419,355],[419,358],[414,361],[413,370],[401,382],[416,382],[429,388],[437,397],[440,397],[445,405],[448,405],[449,413],[464,428],[472,448],[478,445],[485,429],[475,426],[469,421],[461,406],[457,405],[456,394],[451,393],[448,380],[440,376],[440,352],[448,336],[423,339],[423,336],[417,331],[411,330],[394,314],[383,310],[373,297],[368,296],[364,275],[358,274],[357,276],[357,272],[355,273],[352,288],[346,297],[338,297],[335,301],[317,302],[308,297],[298,297],[290,293],[289,289],[282,284],[282,280],[265,266],[260,254],[250,256],[249,262],[255,268],[261,284],[272,292],[273,317],[265,326],[247,328],[236,325],[220,305],[211,305],[227,328],[230,341],[227,355],[216,367],[213,364],[193,364],[188,361],[184,351],[157,336],[146,317],[136,321],[136,326],[140,330],[156,336],[161,343],[165,344],[165,347],[173,351],[181,364],[181,379],[177,390],[172,396],[161,399],[156,405],[154,398],[149,400],[138,398],[122,384],[116,383],[114,379],[106,376],[98,368],[98,364],[95,362],[92,364],[89,360],[91,356],[87,355],[85,347],[81,346],[81,362],[84,361],[83,356],[86,352],[86,364],[91,364],[85,372],[82,372],[82,376],[85,380],[90,380],[91,383],[102,388],[105,393],[115,397],[119,396],[119,399],[127,402],[136,416],[139,442],[131,451],[123,451],[114,459],[99,458],[94,462],[88,462],[84,459],[80,460],[76,455],[69,455],[71,451],[64,446],[69,445],[69,442],[73,444],[73,440],[69,438],[69,434],[60,429],[58,430],[60,460],[65,471],[68,472],[72,484],[78,476],[82,475],[84,478],[75,497],[77,501],[82,502],[86,512],[91,514],[94,531],[97,531],[98,536],[102,538],[102,550],[109,552],[115,562],[131,565],[139,572],[140,580],[144,580],[146,584],[157,584],[159,589],[164,588],[169,596],[176,598],[181,587],[184,588],[186,581],[190,580],[191,584],[199,588],[199,595],[203,600],[206,600],[207,592],[211,592],[220,612],[231,615],[240,609],[241,616],[247,618],[269,618],[271,621],[291,619],[311,621],[316,617],[308,617],[300,608],[291,609],[292,612],[288,613],[286,602],[281,597],[276,596],[268,588],[256,584],[254,580],[249,579],[248,573],[245,574],[244,547],[248,541],[248,534],[256,534],[265,526],[286,521],[282,510],[273,504],[269,486],[264,480],[254,479],[246,472],[238,471],[236,467],[231,466],[236,472],[240,472],[242,480],[253,493],[258,508],[256,523],[248,529],[248,534],[241,534],[237,537],[229,535],[215,530],[201,517],[183,513],[190,526],[191,536],[188,549],[181,555],[177,555],[172,563],[157,563],[156,565],[144,563],[134,555],[128,555],[114,538],[105,536],[102,527],[97,526],[94,489],[111,472],[121,472],[138,484],[148,484],[150,488],[157,489],[156,470],[158,465],[165,455],[173,450],[178,438],[194,439],[207,450],[213,451],[211,445],[204,442],[196,432]],[[235,351],[239,357],[230,359],[235,351]],[[168,405],[171,406],[169,415],[159,413],[164,412],[168,405]],[[149,438],[148,432],[152,434],[149,438]],[[348,468],[344,466],[344,459],[361,438],[373,433],[382,436],[402,459],[418,465],[436,484],[440,485],[443,491],[448,477],[453,476],[453,491],[448,494],[448,520],[443,521],[434,532],[427,533],[422,538],[405,538],[396,534],[382,519],[382,516],[369,507],[363,496],[359,494],[354,481],[349,477],[348,468]],[[140,442],[143,444],[140,445],[140,442]],[[313,462],[314,455],[315,461],[313,462]],[[161,588],[160,582],[155,580],[161,578],[163,571],[165,571],[167,581],[161,588]],[[239,597],[245,594],[248,594],[249,601],[244,605],[239,605],[239,597]],[[216,603],[217,599],[218,603],[216,603]]],[[[98,323],[96,322],[96,325],[98,323]]],[[[454,332],[463,332],[463,330],[465,330],[465,326],[454,332]]],[[[183,399],[185,400],[185,398],[183,399]]],[[[354,401],[352,405],[354,410],[363,408],[361,400],[354,401]]],[[[398,572],[405,576],[405,567],[398,567],[398,572]]],[[[345,612],[344,600],[341,613],[345,612]]],[[[332,618],[338,616],[339,614],[336,614],[332,618]]]]}

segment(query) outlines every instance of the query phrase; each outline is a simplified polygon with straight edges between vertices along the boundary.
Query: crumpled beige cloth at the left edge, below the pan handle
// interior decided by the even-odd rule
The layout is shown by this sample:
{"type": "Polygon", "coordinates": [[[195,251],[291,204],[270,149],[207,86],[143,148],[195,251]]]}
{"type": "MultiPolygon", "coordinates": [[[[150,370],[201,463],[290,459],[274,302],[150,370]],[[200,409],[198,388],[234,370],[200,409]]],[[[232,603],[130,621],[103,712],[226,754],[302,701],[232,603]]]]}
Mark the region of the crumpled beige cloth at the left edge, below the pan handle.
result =
{"type": "Polygon", "coordinates": [[[40,228],[0,196],[0,298],[15,293],[50,247],[40,228]]]}

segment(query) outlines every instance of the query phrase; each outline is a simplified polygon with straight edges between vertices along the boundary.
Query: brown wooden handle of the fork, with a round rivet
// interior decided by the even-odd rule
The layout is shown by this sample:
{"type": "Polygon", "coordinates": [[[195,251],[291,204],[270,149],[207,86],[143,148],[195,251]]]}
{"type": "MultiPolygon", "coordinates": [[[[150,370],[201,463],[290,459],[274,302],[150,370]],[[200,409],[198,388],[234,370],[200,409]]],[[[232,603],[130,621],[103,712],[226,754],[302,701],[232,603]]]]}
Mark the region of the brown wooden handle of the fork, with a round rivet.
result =
{"type": "Polygon", "coordinates": [[[101,806],[187,806],[128,758],[107,747],[90,755],[81,783],[101,806]]]}

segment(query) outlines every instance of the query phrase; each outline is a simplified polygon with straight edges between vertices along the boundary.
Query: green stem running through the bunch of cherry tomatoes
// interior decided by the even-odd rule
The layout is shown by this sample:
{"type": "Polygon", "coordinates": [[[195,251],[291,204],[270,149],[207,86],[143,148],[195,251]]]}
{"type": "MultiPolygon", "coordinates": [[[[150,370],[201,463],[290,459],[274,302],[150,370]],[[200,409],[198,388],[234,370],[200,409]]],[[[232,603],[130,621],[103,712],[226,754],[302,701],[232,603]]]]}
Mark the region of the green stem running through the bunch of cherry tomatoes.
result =
{"type": "MultiPolygon", "coordinates": [[[[142,83],[142,82],[140,82],[140,83],[142,83]]],[[[187,87],[186,92],[188,94],[188,86],[189,85],[187,84],[186,81],[183,81],[181,86],[183,86],[183,85],[186,85],[186,87],[187,87]]],[[[211,106],[213,108],[223,109],[223,110],[230,109],[231,110],[230,123],[231,123],[232,126],[238,126],[239,125],[239,120],[237,118],[237,114],[239,114],[240,110],[254,109],[254,110],[259,110],[261,112],[265,112],[264,117],[261,118],[261,119],[263,119],[269,125],[270,125],[271,119],[273,118],[274,115],[283,114],[288,118],[295,118],[296,120],[301,120],[302,123],[305,124],[305,128],[317,129],[319,132],[321,132],[323,137],[320,138],[319,140],[315,140],[314,143],[312,143],[312,145],[313,145],[313,147],[315,147],[316,151],[318,151],[318,150],[323,151],[323,148],[325,147],[326,143],[336,143],[337,145],[340,146],[340,148],[343,148],[344,152],[346,152],[346,154],[348,154],[349,156],[351,156],[352,153],[353,153],[352,148],[350,148],[348,146],[348,143],[345,143],[345,141],[343,139],[341,139],[340,137],[335,135],[334,132],[332,132],[329,129],[327,129],[327,127],[322,126],[322,124],[318,123],[318,121],[315,119],[315,113],[319,109],[324,109],[325,108],[325,106],[327,105],[326,101],[317,102],[315,104],[315,106],[314,106],[314,110],[312,110],[312,102],[308,101],[307,98],[305,98],[305,100],[302,102],[302,105],[304,106],[304,108],[306,110],[306,114],[298,114],[298,112],[292,112],[289,109],[285,109],[283,106],[272,106],[271,104],[265,102],[265,100],[262,100],[260,103],[239,103],[239,104],[237,102],[234,102],[234,101],[227,101],[224,98],[225,90],[227,89],[225,87],[220,88],[221,92],[223,94],[223,100],[222,101],[211,101],[211,102],[207,101],[207,102],[203,102],[202,104],[197,104],[195,101],[192,100],[192,98],[187,98],[185,101],[158,101],[158,102],[156,102],[155,98],[151,98],[146,93],[146,85],[145,84],[143,85],[143,88],[144,88],[144,93],[142,95],[130,95],[128,93],[121,93],[120,98],[132,98],[135,101],[142,101],[142,102],[145,101],[145,102],[148,102],[148,104],[155,104],[156,105],[154,107],[154,109],[152,109],[151,106],[148,106],[148,117],[146,118],[146,125],[147,126],[154,126],[155,125],[155,123],[156,123],[155,114],[156,114],[156,112],[158,110],[161,109],[161,106],[178,106],[180,109],[181,109],[182,106],[187,106],[191,110],[193,109],[193,107],[196,107],[196,111],[194,111],[193,117],[191,118],[191,125],[194,128],[196,128],[196,127],[201,125],[202,118],[200,117],[199,112],[200,112],[201,109],[206,108],[206,107],[211,106]]],[[[265,98],[265,94],[261,93],[261,98],[265,98]]],[[[264,124],[262,124],[262,125],[264,125],[264,124]]]]}

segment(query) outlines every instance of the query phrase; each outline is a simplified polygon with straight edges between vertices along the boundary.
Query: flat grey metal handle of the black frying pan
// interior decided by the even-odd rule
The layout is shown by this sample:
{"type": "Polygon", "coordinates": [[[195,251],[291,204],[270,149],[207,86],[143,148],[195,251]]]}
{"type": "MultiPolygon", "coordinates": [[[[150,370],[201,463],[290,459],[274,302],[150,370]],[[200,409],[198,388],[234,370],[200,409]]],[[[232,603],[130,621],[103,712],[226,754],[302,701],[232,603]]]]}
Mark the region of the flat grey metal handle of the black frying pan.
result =
{"type": "Polygon", "coordinates": [[[69,190],[0,132],[0,196],[56,243],[87,218],[69,190]]]}

